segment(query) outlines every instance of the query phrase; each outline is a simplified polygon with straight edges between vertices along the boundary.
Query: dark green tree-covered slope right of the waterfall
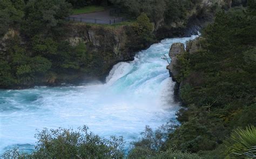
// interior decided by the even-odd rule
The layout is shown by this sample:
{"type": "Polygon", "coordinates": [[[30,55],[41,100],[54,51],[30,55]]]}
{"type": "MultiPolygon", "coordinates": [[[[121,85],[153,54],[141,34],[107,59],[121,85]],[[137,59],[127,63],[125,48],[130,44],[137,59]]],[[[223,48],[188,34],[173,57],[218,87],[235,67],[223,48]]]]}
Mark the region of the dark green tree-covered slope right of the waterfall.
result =
{"type": "Polygon", "coordinates": [[[201,48],[179,57],[180,97],[187,108],[177,113],[182,125],[167,148],[210,156],[234,128],[255,125],[256,21],[250,3],[218,12],[203,31],[201,48]]]}

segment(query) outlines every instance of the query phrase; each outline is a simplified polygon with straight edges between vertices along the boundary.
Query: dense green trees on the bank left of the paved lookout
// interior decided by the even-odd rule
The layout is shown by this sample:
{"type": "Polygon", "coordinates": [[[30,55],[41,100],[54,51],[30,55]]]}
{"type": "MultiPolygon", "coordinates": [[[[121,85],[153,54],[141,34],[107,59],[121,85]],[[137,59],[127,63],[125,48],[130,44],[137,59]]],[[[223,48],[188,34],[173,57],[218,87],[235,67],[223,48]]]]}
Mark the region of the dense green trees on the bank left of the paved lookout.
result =
{"type": "Polygon", "coordinates": [[[1,88],[53,83],[59,74],[91,69],[95,55],[83,42],[71,46],[63,38],[69,33],[65,20],[71,12],[69,3],[6,0],[0,1],[0,8],[0,36],[9,30],[0,51],[1,88]]]}

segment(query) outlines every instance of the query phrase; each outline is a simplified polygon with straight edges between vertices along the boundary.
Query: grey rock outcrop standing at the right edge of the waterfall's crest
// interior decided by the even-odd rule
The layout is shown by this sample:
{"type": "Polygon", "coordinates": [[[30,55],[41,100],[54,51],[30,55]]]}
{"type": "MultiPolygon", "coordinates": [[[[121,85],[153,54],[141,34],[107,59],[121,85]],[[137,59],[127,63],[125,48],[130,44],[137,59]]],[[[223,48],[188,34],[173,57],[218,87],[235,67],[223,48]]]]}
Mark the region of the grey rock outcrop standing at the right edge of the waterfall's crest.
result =
{"type": "Polygon", "coordinates": [[[176,77],[179,74],[178,70],[178,55],[184,54],[186,52],[185,46],[182,43],[174,43],[171,46],[169,56],[171,57],[171,63],[167,66],[169,69],[170,76],[173,81],[177,81],[176,77]]]}

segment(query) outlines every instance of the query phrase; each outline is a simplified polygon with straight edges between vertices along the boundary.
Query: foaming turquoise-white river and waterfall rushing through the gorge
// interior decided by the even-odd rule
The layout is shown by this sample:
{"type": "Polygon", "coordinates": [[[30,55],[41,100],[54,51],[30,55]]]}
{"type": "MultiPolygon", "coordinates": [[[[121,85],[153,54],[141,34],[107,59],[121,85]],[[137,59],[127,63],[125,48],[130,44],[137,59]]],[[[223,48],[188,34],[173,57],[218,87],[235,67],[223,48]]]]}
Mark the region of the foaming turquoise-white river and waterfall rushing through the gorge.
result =
{"type": "Polygon", "coordinates": [[[157,128],[176,120],[174,82],[166,70],[171,44],[194,39],[165,39],[113,67],[106,83],[0,90],[0,154],[12,147],[32,150],[36,129],[87,125],[95,134],[124,136],[126,147],[146,125],[157,128]]]}

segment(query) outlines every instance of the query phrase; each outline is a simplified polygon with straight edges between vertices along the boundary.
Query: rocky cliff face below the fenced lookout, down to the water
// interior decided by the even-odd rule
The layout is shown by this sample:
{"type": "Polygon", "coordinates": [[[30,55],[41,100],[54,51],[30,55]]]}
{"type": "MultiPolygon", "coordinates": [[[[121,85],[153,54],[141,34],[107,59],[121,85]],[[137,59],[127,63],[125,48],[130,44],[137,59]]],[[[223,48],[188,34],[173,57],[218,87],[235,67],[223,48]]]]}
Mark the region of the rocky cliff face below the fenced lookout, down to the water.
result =
{"type": "Polygon", "coordinates": [[[131,61],[137,51],[145,49],[150,44],[137,45],[136,39],[127,33],[131,26],[105,26],[74,23],[70,26],[66,39],[76,46],[79,42],[86,45],[87,52],[94,54],[97,59],[88,74],[82,75],[105,80],[114,64],[121,61],[131,61]]]}

